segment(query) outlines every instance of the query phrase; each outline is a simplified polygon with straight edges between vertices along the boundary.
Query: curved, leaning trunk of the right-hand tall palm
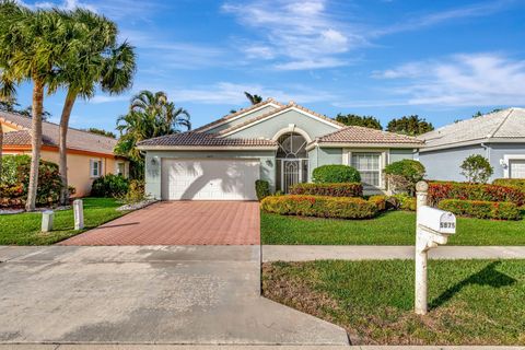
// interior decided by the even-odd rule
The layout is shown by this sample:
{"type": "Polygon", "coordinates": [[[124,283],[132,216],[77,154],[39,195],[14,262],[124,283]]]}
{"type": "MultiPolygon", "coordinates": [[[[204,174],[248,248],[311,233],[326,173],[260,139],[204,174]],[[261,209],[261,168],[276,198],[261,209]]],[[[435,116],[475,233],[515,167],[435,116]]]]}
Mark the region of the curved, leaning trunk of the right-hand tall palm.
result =
{"type": "Polygon", "coordinates": [[[58,151],[59,162],[58,170],[60,179],[62,180],[62,188],[60,190],[60,205],[66,206],[69,201],[68,188],[68,128],[71,110],[73,109],[74,101],[77,100],[77,92],[68,90],[66,102],[63,103],[62,115],[60,117],[60,128],[58,133],[58,151]]]}

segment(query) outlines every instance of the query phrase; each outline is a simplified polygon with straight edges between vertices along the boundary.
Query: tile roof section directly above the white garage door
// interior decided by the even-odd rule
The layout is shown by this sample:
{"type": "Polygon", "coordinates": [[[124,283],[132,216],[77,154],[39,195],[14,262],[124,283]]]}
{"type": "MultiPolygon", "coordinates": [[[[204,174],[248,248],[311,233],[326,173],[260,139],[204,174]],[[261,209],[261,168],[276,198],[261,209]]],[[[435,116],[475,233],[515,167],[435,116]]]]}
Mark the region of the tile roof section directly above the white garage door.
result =
{"type": "Polygon", "coordinates": [[[187,131],[144,140],[138,145],[268,147],[277,143],[268,139],[224,139],[214,133],[187,131]]]}

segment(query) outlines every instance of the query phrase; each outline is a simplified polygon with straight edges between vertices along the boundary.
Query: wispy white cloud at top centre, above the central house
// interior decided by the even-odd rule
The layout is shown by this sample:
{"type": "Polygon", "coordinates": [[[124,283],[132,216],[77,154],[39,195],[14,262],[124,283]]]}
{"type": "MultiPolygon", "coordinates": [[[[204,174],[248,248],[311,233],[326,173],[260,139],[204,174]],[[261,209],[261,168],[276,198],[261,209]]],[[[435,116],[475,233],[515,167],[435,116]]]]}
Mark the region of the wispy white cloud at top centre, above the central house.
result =
{"type": "Polygon", "coordinates": [[[223,11],[235,15],[246,27],[256,30],[267,55],[243,51],[246,58],[276,59],[279,70],[331,68],[347,65],[339,55],[363,45],[366,40],[357,31],[330,14],[325,0],[262,1],[225,3],[223,11]],[[271,55],[269,55],[271,52],[271,55]]]}

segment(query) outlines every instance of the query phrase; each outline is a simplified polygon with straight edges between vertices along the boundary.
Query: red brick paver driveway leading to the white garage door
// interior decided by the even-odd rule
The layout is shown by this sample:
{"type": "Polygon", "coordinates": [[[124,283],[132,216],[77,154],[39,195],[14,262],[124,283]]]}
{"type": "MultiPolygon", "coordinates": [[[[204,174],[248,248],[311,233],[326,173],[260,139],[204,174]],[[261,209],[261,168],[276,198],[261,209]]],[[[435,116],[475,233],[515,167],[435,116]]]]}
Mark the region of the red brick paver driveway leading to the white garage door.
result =
{"type": "Polygon", "coordinates": [[[163,201],[60,245],[253,245],[260,242],[259,203],[163,201]]]}

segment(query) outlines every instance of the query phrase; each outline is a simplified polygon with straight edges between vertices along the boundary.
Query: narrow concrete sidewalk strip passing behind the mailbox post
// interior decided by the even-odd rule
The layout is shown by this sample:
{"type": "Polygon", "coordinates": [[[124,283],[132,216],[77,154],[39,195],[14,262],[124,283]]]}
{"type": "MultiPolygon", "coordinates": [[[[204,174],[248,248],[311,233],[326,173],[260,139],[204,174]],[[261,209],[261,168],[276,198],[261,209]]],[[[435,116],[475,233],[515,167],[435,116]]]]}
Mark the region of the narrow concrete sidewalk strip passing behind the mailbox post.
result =
{"type": "MultiPolygon", "coordinates": [[[[413,259],[413,246],[264,245],[262,261],[413,259]]],[[[431,259],[525,259],[525,246],[439,246],[431,259]]]]}

